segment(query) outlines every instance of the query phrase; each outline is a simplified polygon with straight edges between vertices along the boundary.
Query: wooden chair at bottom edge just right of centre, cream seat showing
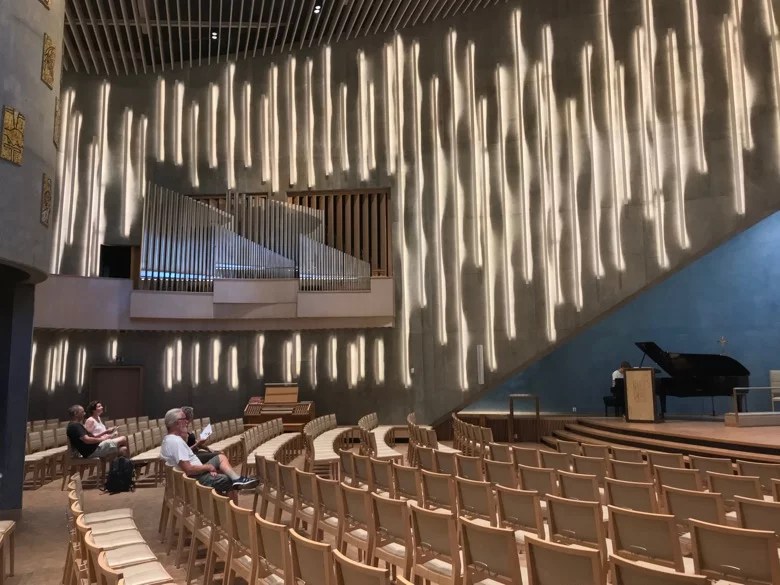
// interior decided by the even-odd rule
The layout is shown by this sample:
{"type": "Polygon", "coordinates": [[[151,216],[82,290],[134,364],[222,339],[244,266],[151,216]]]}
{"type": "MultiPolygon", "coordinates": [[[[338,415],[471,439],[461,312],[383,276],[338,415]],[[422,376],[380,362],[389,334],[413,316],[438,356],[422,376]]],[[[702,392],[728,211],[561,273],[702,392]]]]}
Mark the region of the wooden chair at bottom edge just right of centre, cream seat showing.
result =
{"type": "Polygon", "coordinates": [[[412,514],[412,542],[415,581],[425,579],[440,585],[460,585],[462,567],[455,513],[426,510],[409,504],[412,514]]]}

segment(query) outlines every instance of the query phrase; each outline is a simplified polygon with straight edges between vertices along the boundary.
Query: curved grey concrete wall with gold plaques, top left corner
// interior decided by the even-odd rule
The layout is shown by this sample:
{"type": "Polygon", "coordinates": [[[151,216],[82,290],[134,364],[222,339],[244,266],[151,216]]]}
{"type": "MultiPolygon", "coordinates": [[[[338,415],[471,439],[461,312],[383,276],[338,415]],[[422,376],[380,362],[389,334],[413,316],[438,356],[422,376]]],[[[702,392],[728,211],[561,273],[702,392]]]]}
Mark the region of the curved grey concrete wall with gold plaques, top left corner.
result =
{"type": "Polygon", "coordinates": [[[51,4],[47,10],[37,0],[7,0],[0,22],[0,108],[18,110],[26,122],[21,165],[0,160],[0,264],[24,270],[34,283],[49,273],[51,252],[50,229],[40,222],[42,177],[46,173],[53,183],[57,170],[54,99],[60,91],[65,4],[51,4]],[[41,81],[44,33],[57,51],[52,89],[41,81]]]}

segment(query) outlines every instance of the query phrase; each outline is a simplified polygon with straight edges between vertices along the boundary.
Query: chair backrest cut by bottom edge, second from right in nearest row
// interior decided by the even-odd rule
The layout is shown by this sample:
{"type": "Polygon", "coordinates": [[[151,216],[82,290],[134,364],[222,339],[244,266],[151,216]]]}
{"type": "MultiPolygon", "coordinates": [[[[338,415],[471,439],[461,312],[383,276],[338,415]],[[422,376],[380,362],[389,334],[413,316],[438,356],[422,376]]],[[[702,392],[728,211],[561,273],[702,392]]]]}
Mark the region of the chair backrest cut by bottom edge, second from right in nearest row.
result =
{"type": "Polygon", "coordinates": [[[599,551],[566,546],[533,536],[525,539],[530,585],[603,585],[604,572],[599,551]]]}

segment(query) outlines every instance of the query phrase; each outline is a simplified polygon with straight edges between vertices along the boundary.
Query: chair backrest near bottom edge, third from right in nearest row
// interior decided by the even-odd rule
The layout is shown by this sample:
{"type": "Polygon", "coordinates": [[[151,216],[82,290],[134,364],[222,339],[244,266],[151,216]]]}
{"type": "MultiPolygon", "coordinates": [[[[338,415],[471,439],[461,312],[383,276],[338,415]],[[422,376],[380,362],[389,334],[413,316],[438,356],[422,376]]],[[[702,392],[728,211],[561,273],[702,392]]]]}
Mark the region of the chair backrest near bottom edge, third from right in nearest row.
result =
{"type": "Polygon", "coordinates": [[[466,583],[522,585],[514,531],[460,519],[466,583]]]}

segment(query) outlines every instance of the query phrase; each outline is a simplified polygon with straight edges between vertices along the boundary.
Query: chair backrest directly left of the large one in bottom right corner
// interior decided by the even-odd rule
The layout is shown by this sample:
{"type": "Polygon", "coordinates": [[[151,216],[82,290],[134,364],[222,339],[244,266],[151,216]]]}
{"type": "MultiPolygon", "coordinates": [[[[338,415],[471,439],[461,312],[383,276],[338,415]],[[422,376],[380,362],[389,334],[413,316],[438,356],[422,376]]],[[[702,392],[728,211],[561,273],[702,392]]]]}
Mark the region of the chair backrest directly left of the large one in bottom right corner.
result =
{"type": "Polygon", "coordinates": [[[615,506],[608,510],[612,551],[616,555],[685,570],[674,516],[615,506]]]}

